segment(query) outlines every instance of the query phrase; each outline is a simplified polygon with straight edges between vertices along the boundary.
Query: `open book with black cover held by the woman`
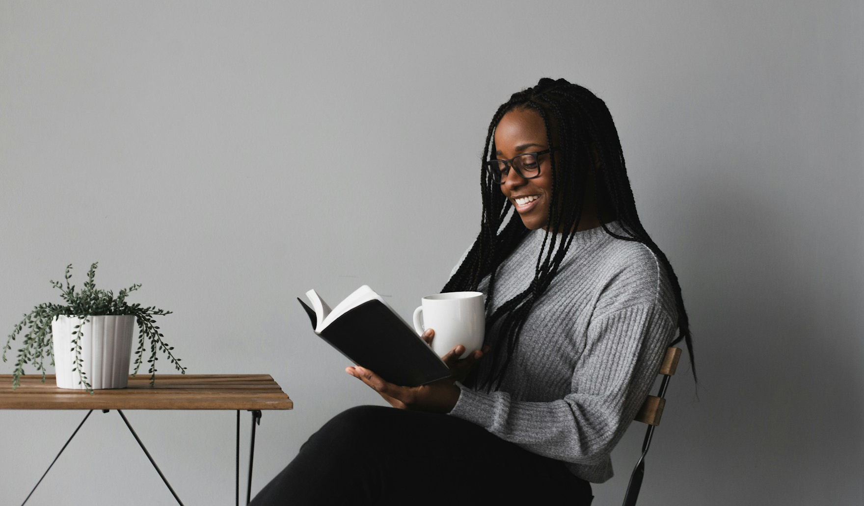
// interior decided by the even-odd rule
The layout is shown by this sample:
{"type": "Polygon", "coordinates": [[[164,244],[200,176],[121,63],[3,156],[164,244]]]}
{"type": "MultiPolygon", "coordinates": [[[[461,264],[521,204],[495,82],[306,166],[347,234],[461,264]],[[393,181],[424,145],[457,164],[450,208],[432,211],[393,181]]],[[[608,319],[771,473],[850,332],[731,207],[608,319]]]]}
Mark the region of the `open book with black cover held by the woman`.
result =
{"type": "Polygon", "coordinates": [[[334,309],[314,290],[306,296],[312,307],[297,301],[314,332],[354,364],[406,387],[450,376],[447,364],[372,288],[363,285],[334,309]]]}

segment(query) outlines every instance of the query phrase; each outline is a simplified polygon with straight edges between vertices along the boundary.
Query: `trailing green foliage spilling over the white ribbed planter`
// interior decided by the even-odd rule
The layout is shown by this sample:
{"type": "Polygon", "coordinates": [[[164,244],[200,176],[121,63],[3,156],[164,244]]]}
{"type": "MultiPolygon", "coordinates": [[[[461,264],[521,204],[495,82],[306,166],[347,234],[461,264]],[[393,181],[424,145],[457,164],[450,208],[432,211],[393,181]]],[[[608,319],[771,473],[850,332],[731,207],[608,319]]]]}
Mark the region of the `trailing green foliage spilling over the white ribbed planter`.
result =
{"type": "Polygon", "coordinates": [[[66,304],[53,304],[46,302],[33,308],[30,313],[24,314],[24,318],[18,325],[15,326],[13,332],[6,340],[6,345],[3,346],[3,362],[6,362],[6,352],[12,350],[12,341],[17,336],[27,329],[22,339],[22,347],[18,350],[18,356],[15,364],[15,370],[12,373],[12,386],[17,388],[20,377],[24,374],[24,364],[32,364],[36,369],[41,370],[42,382],[45,381],[45,360],[50,359],[51,365],[54,365],[54,345],[53,336],[51,335],[51,322],[60,315],[69,317],[77,317],[82,319],[82,323],[75,326],[73,333],[72,351],[75,352],[75,365],[73,371],[78,372],[79,384],[83,384],[88,392],[93,393],[91,384],[87,380],[86,373],[82,369],[83,361],[81,360],[80,338],[83,336],[84,324],[88,323],[89,316],[107,316],[107,315],[132,315],[138,324],[138,348],[135,351],[135,370],[132,376],[137,375],[138,369],[143,364],[144,348],[149,340],[149,365],[150,384],[156,379],[156,351],[162,351],[168,356],[168,361],[174,364],[175,369],[186,374],[186,368],[181,366],[180,358],[176,358],[172,350],[173,346],[169,346],[162,338],[162,332],[159,332],[159,327],[156,326],[154,316],[170,314],[170,311],[157,309],[156,307],[141,307],[140,304],[129,304],[126,302],[126,297],[130,292],[134,292],[141,288],[140,284],[132,285],[130,288],[120,290],[117,297],[111,290],[100,290],[96,288],[96,283],[93,278],[96,276],[96,267],[98,262],[90,266],[87,271],[87,281],[84,283],[84,288],[78,292],[75,291],[75,286],[69,283],[72,279],[72,264],[67,265],[65,274],[65,285],[61,281],[51,281],[51,286],[60,290],[60,298],[66,304]]]}

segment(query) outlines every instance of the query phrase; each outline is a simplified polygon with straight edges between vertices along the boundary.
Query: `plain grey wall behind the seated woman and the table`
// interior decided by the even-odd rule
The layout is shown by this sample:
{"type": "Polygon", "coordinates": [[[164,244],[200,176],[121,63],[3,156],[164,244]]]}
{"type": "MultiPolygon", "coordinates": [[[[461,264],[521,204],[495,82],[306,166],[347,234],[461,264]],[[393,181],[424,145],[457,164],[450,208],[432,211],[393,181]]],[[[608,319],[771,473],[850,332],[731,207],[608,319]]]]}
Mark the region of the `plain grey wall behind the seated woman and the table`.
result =
{"type": "MultiPolygon", "coordinates": [[[[130,300],[175,312],[160,322],[190,373],[269,373],[294,400],[264,413],[257,491],[331,416],[383,403],[295,297],[368,283],[407,316],[440,290],[479,230],[492,113],[564,77],[613,112],[695,336],[701,384],[683,363],[640,503],[864,503],[862,14],[3,0],[0,324],[59,301],[48,281],[70,262],[79,284],[94,261],[102,288],[143,283],[130,300]]],[[[26,497],[83,414],[0,412],[0,502],[26,497]]],[[[185,503],[233,502],[234,413],[127,415],[185,503]]],[[[620,503],[642,433],[595,504],[620,503]]],[[[173,499],[96,413],[30,500],[52,503],[173,499]]]]}

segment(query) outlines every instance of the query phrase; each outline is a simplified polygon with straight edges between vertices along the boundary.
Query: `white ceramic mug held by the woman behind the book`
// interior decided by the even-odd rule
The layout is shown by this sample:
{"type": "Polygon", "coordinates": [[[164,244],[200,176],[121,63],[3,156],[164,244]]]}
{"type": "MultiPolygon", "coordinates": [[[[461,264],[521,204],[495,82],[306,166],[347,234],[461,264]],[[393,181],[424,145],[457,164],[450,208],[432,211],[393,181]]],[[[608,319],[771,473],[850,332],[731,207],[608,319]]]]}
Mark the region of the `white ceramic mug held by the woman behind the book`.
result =
{"type": "Polygon", "coordinates": [[[457,345],[465,346],[465,358],[480,350],[486,332],[486,309],[481,292],[445,292],[426,295],[414,310],[414,330],[420,335],[435,331],[432,351],[443,357],[457,345]]]}

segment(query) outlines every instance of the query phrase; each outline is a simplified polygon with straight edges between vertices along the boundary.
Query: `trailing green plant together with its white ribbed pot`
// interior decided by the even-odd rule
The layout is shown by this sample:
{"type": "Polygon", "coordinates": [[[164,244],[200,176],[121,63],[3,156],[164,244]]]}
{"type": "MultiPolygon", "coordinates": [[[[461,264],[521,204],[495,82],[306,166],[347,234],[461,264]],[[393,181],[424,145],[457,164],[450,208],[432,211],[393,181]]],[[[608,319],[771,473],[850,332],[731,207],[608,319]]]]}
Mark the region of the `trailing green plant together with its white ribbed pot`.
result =
{"type": "Polygon", "coordinates": [[[32,364],[42,373],[45,382],[45,360],[55,365],[57,386],[64,389],[122,389],[129,375],[132,345],[132,323],[138,324],[138,346],[135,351],[135,371],[138,372],[144,357],[144,348],[149,341],[150,384],[156,379],[156,351],[168,356],[168,361],[185,374],[180,358],[171,353],[174,348],[162,340],[164,337],[156,326],[154,316],[170,314],[156,307],[141,307],[129,304],[126,296],[141,288],[140,284],[120,290],[115,297],[111,290],[96,288],[93,278],[98,262],[87,271],[84,288],[75,291],[69,283],[72,264],[66,268],[66,284],[51,281],[60,290],[65,304],[46,302],[33,308],[15,326],[15,330],[3,347],[3,362],[11,343],[26,328],[22,347],[18,350],[15,371],[12,374],[13,388],[17,388],[24,374],[24,364],[32,364]],[[77,381],[77,383],[76,383],[77,381]]]}

